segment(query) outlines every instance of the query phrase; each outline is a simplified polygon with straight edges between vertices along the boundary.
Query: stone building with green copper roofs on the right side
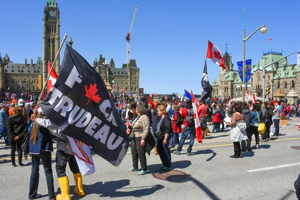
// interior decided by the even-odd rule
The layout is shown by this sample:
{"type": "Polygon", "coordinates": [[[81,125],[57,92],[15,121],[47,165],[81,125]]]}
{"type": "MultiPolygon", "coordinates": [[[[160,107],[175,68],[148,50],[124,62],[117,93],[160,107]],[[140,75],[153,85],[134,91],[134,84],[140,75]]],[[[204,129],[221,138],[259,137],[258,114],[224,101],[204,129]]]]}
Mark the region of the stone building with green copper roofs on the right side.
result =
{"type": "MultiPolygon", "coordinates": [[[[237,84],[240,86],[242,84],[238,71],[233,69],[231,55],[227,50],[223,57],[224,65],[227,69],[220,67],[218,78],[213,80],[211,84],[211,94],[212,96],[220,95],[222,99],[228,96],[231,98],[240,97],[243,95],[241,87],[236,88],[237,84]]],[[[269,51],[263,53],[256,64],[252,64],[251,78],[247,82],[247,84],[251,84],[251,87],[248,89],[249,95],[254,93],[255,96],[262,96],[263,61],[265,63],[264,65],[267,65],[281,57],[283,57],[282,52],[269,51]]],[[[297,64],[290,64],[286,58],[283,58],[265,69],[265,86],[270,87],[269,97],[273,97],[278,86],[280,86],[280,89],[286,97],[292,85],[295,91],[300,93],[300,53],[297,54],[297,64]]]]}

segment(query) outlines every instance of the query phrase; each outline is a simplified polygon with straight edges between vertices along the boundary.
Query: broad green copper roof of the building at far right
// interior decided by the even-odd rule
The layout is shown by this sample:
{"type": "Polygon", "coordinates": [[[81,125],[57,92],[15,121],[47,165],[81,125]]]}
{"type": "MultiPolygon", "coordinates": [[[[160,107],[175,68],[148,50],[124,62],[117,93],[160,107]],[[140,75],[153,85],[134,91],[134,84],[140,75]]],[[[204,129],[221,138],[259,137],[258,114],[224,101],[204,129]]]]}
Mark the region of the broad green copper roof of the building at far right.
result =
{"type": "MultiPolygon", "coordinates": [[[[268,65],[269,63],[283,57],[282,55],[277,55],[277,54],[268,54],[268,55],[263,55],[260,60],[257,62],[257,64],[253,65],[252,71],[256,71],[256,70],[262,70],[263,67],[263,57],[264,57],[264,65],[268,65]]],[[[278,61],[278,68],[283,67],[283,66],[289,66],[288,61],[286,60],[286,58],[283,58],[281,60],[278,61]]],[[[268,66],[265,68],[266,71],[270,71],[270,70],[276,70],[274,67],[274,64],[268,66]]]]}

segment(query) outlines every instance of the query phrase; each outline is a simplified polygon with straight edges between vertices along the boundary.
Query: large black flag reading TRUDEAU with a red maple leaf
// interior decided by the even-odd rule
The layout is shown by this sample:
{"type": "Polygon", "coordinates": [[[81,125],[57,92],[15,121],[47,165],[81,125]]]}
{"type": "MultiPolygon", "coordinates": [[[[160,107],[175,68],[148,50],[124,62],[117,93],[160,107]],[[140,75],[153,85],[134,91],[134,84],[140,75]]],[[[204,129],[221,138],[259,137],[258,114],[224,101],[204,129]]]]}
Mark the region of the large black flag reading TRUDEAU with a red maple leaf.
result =
{"type": "Polygon", "coordinates": [[[100,75],[68,45],[57,80],[40,107],[62,133],[120,164],[129,144],[125,125],[100,75]]]}

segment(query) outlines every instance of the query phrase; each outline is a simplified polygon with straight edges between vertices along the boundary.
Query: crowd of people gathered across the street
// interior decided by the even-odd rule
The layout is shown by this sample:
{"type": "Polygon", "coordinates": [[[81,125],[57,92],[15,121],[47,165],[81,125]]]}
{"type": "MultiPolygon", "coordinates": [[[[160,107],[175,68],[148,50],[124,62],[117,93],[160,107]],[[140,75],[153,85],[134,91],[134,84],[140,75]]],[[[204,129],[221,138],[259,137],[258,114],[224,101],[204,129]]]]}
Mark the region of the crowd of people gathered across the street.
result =
{"type": "MultiPolygon", "coordinates": [[[[180,154],[185,140],[189,139],[186,155],[190,156],[196,136],[191,99],[184,101],[176,97],[165,97],[163,100],[161,97],[160,101],[154,103],[154,107],[153,104],[148,103],[148,100],[145,96],[137,98],[129,95],[121,106],[119,100],[114,100],[116,111],[127,126],[132,156],[132,166],[128,171],[138,171],[138,175],[147,173],[145,153],[150,154],[152,148],[154,154],[160,157],[160,169],[171,170],[171,149],[177,145],[172,153],[180,154]]],[[[22,152],[21,145],[28,134],[28,153],[31,153],[32,162],[28,198],[34,199],[40,196],[40,193],[37,193],[40,160],[44,166],[49,199],[70,199],[69,181],[65,172],[67,163],[74,176],[75,193],[79,196],[85,195],[82,176],[67,136],[59,131],[56,124],[46,118],[40,108],[35,112],[35,106],[36,102],[24,103],[23,99],[19,99],[11,104],[2,102],[0,110],[0,138],[3,137],[5,145],[11,147],[11,167],[23,166],[22,154],[25,152],[22,152]],[[57,142],[55,169],[61,190],[61,194],[56,196],[51,168],[53,140],[57,142]],[[18,165],[15,164],[15,151],[18,154],[18,165]]],[[[207,125],[213,125],[212,133],[223,131],[227,126],[231,128],[230,141],[233,142],[234,151],[234,154],[230,155],[232,158],[242,157],[242,152],[251,151],[252,148],[258,149],[260,142],[267,142],[271,136],[278,136],[281,116],[288,118],[292,114],[296,116],[298,114],[295,106],[289,106],[284,101],[277,101],[275,105],[257,101],[250,106],[246,102],[229,104],[214,98],[209,102],[199,99],[196,109],[195,114],[199,117],[202,139],[205,139],[210,132],[207,125]],[[230,121],[224,120],[228,117],[230,121]],[[263,132],[259,130],[261,123],[265,127],[263,132]],[[255,145],[250,146],[253,134],[255,145]]]]}

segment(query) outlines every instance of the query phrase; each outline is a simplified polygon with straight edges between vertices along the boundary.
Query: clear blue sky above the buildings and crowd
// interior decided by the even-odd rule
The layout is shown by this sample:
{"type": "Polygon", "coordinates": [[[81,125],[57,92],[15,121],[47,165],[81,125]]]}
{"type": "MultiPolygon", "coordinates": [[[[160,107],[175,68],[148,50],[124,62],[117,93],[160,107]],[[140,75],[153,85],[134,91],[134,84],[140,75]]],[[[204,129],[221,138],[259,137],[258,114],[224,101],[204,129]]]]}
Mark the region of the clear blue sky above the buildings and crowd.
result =
{"type": "MultiPolygon", "coordinates": [[[[14,62],[34,62],[42,56],[42,20],[46,0],[1,2],[1,56],[14,62]]],[[[131,58],[140,68],[139,87],[147,93],[200,93],[204,56],[209,39],[232,56],[234,68],[242,60],[243,9],[246,36],[265,24],[266,34],[256,32],[246,41],[246,59],[257,63],[269,48],[286,55],[300,49],[300,1],[289,0],[57,0],[60,39],[71,36],[73,48],[92,63],[100,54],[112,57],[116,67],[126,62],[125,36],[139,6],[131,31],[131,58]]],[[[60,53],[62,60],[64,48],[60,53]]],[[[296,55],[288,57],[296,63],[296,55]]],[[[219,67],[207,59],[210,83],[219,67]]]]}

